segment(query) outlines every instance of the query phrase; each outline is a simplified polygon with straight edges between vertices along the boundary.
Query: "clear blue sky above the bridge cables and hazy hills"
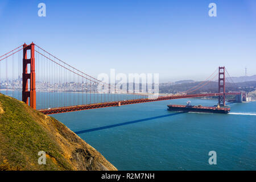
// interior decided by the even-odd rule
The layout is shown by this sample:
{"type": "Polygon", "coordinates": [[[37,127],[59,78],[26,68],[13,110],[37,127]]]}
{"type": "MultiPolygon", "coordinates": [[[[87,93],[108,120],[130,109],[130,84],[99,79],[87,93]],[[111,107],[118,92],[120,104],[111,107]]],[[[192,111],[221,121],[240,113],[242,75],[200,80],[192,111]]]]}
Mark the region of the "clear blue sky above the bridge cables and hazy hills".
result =
{"type": "Polygon", "coordinates": [[[0,55],[34,41],[92,76],[204,80],[219,65],[256,74],[256,1],[0,1],[0,55]],[[47,16],[38,16],[38,3],[47,16]],[[217,5],[217,17],[208,5],[217,5]]]}

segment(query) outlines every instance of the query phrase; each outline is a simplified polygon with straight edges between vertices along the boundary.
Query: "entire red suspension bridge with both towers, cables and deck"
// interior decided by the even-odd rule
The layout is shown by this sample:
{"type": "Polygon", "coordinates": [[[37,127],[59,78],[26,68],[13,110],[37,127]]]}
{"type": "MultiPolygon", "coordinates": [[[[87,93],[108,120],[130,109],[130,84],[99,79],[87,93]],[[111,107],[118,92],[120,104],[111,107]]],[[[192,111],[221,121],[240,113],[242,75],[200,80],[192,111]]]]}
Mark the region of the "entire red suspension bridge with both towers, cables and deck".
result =
{"type": "Polygon", "coordinates": [[[244,92],[226,92],[226,75],[232,80],[226,68],[219,67],[205,81],[182,93],[152,98],[151,94],[143,94],[135,90],[124,91],[117,88],[117,85],[107,84],[89,76],[33,42],[28,45],[24,43],[0,56],[0,82],[5,79],[0,84],[0,90],[5,90],[6,93],[12,92],[12,96],[15,95],[15,90],[18,91],[16,98],[33,109],[39,107],[38,110],[44,114],[216,96],[218,96],[218,104],[225,106],[225,96],[245,94],[244,92]],[[197,93],[204,86],[214,85],[214,82],[218,83],[216,92],[197,93]],[[108,93],[99,93],[98,86],[111,89],[108,93]]]}

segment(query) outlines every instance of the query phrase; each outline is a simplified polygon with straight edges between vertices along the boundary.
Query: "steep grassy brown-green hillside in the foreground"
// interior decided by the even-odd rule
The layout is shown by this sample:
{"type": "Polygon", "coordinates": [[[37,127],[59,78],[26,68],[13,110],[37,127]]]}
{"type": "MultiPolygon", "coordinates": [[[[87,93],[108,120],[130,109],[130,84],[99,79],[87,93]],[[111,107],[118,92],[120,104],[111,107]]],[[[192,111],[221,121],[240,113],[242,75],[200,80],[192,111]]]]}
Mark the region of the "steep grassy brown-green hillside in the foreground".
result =
{"type": "Polygon", "coordinates": [[[116,170],[56,119],[0,94],[0,170],[116,170]],[[38,164],[38,152],[47,154],[38,164]]]}

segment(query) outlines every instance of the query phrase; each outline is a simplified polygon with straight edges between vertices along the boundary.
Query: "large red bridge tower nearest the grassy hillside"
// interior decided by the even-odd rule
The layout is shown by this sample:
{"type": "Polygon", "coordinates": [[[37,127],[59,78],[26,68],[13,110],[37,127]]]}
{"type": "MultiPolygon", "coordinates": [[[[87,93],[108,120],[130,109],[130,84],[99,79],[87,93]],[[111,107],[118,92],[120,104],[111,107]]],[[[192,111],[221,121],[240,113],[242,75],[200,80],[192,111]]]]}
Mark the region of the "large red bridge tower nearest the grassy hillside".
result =
{"type": "Polygon", "coordinates": [[[23,73],[22,73],[22,101],[36,109],[36,89],[35,89],[35,44],[23,44],[23,73]],[[28,50],[30,58],[28,59],[28,50]],[[30,66],[30,72],[28,72],[30,66]],[[30,86],[28,88],[28,80],[30,86]],[[30,99],[28,101],[28,98],[30,99]]]}

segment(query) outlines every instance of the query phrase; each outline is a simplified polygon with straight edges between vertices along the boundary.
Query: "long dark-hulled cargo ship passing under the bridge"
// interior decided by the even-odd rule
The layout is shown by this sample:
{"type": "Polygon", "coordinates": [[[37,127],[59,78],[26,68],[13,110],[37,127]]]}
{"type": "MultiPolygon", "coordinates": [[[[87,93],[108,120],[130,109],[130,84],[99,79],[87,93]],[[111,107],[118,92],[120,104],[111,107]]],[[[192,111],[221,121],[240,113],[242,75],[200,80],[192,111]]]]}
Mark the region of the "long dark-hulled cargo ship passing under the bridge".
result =
{"type": "Polygon", "coordinates": [[[182,111],[182,112],[192,112],[192,113],[221,113],[228,114],[230,108],[228,107],[206,107],[206,106],[192,106],[190,101],[187,102],[187,105],[167,105],[168,110],[171,111],[182,111]]]}

